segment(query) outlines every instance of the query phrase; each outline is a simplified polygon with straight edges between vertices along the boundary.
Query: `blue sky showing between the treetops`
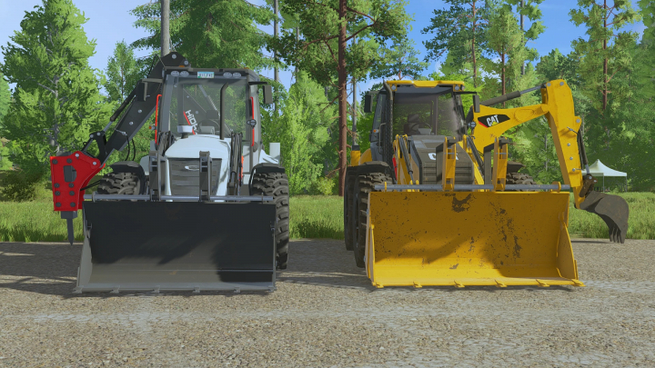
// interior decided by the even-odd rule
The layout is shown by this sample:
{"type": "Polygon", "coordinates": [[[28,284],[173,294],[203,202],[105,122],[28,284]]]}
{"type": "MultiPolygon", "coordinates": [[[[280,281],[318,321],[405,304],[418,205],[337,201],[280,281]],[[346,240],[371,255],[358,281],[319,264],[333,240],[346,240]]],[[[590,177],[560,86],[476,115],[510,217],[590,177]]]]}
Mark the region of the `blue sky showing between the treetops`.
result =
{"type": "MultiPolygon", "coordinates": [[[[151,0],[153,1],[153,0],[151,0]]],[[[251,0],[251,3],[263,5],[266,0],[251,0]]],[[[106,69],[107,59],[112,55],[117,42],[125,40],[132,43],[137,39],[146,36],[143,29],[134,27],[136,17],[129,14],[129,11],[136,5],[146,4],[148,0],[73,0],[73,3],[86,15],[88,22],[84,25],[86,35],[89,39],[96,40],[96,55],[89,59],[92,67],[100,70],[106,69]]],[[[635,3],[636,1],[633,1],[635,3]]],[[[20,22],[25,12],[32,11],[35,5],[41,5],[41,0],[0,0],[0,45],[7,45],[9,37],[20,29],[20,22]]],[[[576,27],[569,20],[569,10],[575,8],[575,0],[545,0],[539,5],[546,25],[546,31],[539,35],[539,38],[531,44],[539,51],[539,55],[547,55],[551,50],[559,48],[559,51],[566,55],[571,51],[571,41],[579,37],[585,37],[583,26],[576,27]]],[[[430,38],[430,35],[423,35],[421,30],[430,24],[430,18],[434,16],[434,9],[442,9],[446,5],[441,0],[408,0],[407,12],[412,15],[414,21],[411,23],[409,37],[414,40],[415,47],[420,51],[420,56],[426,55],[423,41],[430,38]]],[[[529,26],[529,22],[526,28],[529,26]]],[[[262,30],[273,33],[272,26],[262,26],[262,30]]],[[[628,25],[628,30],[643,33],[644,25],[638,23],[628,25]]],[[[137,56],[147,55],[146,50],[136,50],[137,56]]],[[[0,55],[4,60],[4,55],[0,55]]],[[[426,75],[438,68],[438,61],[432,61],[426,75]]],[[[273,77],[273,71],[263,71],[262,75],[273,77]]],[[[292,75],[290,71],[280,72],[280,82],[284,85],[291,85],[292,75]]],[[[370,87],[378,81],[367,81],[358,84],[358,91],[370,87]]],[[[13,86],[12,86],[13,87],[13,86]]]]}

